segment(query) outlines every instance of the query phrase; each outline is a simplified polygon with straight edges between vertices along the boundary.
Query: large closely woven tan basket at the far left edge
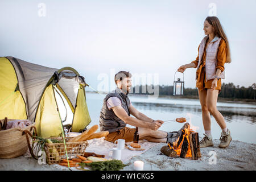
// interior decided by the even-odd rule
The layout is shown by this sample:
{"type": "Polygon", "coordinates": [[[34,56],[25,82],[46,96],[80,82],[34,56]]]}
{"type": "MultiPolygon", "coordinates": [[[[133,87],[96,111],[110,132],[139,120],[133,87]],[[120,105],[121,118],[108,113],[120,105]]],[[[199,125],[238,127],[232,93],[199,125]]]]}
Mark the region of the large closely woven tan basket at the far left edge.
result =
{"type": "MultiPolygon", "coordinates": [[[[8,121],[12,121],[14,119],[8,119],[8,121]]],[[[3,119],[0,120],[3,122],[3,119]]],[[[0,158],[2,159],[10,159],[16,158],[20,155],[23,155],[28,150],[28,143],[25,135],[25,131],[29,131],[31,134],[34,132],[32,125],[24,128],[13,128],[8,130],[0,131],[0,158]]]]}

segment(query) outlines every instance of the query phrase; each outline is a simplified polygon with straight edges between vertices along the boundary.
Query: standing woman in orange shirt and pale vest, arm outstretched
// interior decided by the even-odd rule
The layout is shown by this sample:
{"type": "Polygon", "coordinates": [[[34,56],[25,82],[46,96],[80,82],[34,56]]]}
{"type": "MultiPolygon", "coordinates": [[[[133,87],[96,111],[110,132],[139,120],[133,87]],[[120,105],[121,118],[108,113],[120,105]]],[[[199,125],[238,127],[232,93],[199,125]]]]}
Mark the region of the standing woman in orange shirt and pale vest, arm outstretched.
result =
{"type": "Polygon", "coordinates": [[[187,68],[196,69],[196,87],[202,108],[202,119],[205,137],[200,141],[200,147],[213,146],[210,131],[210,114],[221,127],[220,144],[218,147],[226,148],[232,140],[229,129],[222,114],[217,110],[218,94],[221,91],[221,78],[225,78],[224,64],[230,63],[229,42],[222,29],[220,20],[216,16],[208,16],[204,21],[204,34],[198,48],[195,61],[182,65],[177,71],[183,73],[187,68]]]}

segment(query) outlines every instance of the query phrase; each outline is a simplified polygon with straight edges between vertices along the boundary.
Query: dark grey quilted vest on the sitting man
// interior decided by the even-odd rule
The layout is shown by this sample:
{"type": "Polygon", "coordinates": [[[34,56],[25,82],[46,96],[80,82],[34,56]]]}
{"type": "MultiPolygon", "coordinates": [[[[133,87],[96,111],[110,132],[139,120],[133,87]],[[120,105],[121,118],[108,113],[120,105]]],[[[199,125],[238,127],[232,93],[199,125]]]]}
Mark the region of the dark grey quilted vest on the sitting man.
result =
{"type": "Polygon", "coordinates": [[[103,106],[100,113],[100,130],[109,131],[109,133],[112,133],[125,127],[126,123],[119,119],[112,109],[109,110],[106,101],[108,101],[110,97],[119,98],[119,100],[121,100],[122,102],[123,109],[125,109],[128,115],[130,115],[130,100],[129,97],[126,94],[124,94],[122,90],[119,88],[115,89],[112,93],[109,93],[104,98],[103,106]]]}

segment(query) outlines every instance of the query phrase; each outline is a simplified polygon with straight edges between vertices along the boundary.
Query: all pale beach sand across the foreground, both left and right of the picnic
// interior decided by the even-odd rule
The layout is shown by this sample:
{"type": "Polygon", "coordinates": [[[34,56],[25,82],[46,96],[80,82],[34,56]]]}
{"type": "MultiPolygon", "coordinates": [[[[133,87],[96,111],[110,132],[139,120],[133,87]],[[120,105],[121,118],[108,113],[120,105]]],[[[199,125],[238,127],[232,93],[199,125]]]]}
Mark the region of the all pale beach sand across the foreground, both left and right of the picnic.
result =
{"type": "MultiPolygon", "coordinates": [[[[141,155],[134,156],[127,160],[126,166],[122,170],[133,171],[135,160],[144,162],[144,170],[147,171],[193,171],[193,170],[255,170],[256,169],[256,144],[232,140],[228,148],[218,148],[220,140],[213,140],[214,146],[201,148],[201,158],[199,160],[169,158],[160,152],[160,148],[165,143],[159,143],[141,155]],[[214,153],[216,152],[216,153],[214,153]],[[216,154],[216,160],[214,160],[216,154]]],[[[75,167],[72,170],[78,170],[75,167]]],[[[38,161],[32,159],[29,152],[14,159],[0,159],[0,170],[68,170],[67,167],[58,164],[39,165],[38,161]]]]}

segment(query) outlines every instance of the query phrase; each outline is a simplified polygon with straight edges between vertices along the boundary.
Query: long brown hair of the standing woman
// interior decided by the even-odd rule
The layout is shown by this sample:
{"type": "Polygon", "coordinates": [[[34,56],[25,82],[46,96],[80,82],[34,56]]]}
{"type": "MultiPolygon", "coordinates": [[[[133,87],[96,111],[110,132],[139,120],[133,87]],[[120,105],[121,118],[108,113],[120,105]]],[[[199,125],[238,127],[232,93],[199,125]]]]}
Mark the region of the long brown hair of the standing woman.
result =
{"type": "Polygon", "coordinates": [[[214,34],[217,35],[219,38],[222,38],[225,40],[226,48],[227,48],[226,63],[231,63],[229,41],[228,41],[228,38],[226,37],[226,34],[221,26],[220,20],[218,20],[218,18],[216,16],[207,16],[207,18],[205,20],[207,20],[207,22],[213,26],[214,34]]]}

